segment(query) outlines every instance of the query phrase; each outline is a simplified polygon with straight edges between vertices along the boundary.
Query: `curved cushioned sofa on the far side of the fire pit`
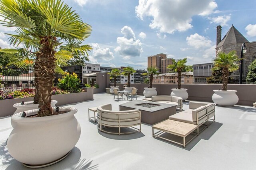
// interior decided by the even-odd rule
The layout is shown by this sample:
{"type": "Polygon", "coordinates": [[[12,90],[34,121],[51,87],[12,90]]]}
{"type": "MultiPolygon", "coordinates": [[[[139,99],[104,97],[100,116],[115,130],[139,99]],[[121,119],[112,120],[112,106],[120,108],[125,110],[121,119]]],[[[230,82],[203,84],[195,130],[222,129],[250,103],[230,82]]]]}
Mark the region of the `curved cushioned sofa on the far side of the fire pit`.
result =
{"type": "Polygon", "coordinates": [[[164,103],[164,104],[174,104],[176,107],[180,108],[182,111],[183,102],[182,98],[177,96],[152,96],[152,102],[164,103]]]}

